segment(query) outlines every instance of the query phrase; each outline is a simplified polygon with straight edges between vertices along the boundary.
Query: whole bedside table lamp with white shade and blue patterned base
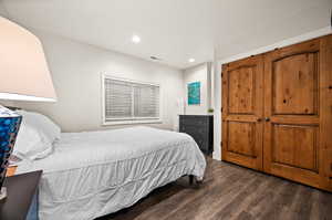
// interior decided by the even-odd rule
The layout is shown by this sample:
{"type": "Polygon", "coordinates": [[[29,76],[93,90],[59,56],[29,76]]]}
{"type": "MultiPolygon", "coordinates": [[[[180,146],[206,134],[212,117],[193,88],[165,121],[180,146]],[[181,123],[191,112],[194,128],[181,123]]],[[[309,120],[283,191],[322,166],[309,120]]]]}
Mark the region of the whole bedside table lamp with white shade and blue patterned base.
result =
{"type": "MultiPolygon", "coordinates": [[[[55,102],[42,44],[22,27],[0,17],[0,99],[55,102]]],[[[0,105],[0,200],[22,116],[0,105]]]]}

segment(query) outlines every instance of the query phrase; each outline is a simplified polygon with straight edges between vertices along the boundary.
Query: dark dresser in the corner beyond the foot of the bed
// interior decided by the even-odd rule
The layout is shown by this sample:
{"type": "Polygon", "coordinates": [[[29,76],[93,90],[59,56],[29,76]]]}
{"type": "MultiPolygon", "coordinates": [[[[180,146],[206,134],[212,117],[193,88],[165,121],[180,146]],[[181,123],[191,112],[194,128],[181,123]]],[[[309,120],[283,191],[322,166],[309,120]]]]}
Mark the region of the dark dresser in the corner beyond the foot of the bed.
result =
{"type": "Polygon", "coordinates": [[[214,151],[212,115],[179,115],[179,132],[190,135],[203,153],[214,151]]]}

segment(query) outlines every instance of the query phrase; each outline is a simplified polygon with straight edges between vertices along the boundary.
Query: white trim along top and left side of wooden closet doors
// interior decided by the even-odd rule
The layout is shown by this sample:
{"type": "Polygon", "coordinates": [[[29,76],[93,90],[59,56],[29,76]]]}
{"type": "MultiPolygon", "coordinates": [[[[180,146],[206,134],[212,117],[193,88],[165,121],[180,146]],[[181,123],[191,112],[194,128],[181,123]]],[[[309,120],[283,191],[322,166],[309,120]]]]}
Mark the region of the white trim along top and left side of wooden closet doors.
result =
{"type": "Polygon", "coordinates": [[[224,63],[229,63],[236,60],[240,60],[243,57],[248,57],[250,55],[264,53],[268,51],[272,51],[276,48],[282,48],[291,44],[295,44],[302,41],[307,41],[310,39],[314,39],[318,36],[326,35],[332,33],[331,27],[326,27],[324,29],[320,29],[317,31],[312,31],[295,38],[287,39],[281,42],[277,42],[271,45],[267,45],[263,48],[259,48],[253,51],[249,51],[247,53],[237,54],[230,56],[228,59],[217,61],[215,59],[215,147],[214,147],[214,158],[221,159],[221,149],[220,149],[220,142],[221,142],[221,65],[224,63]]]}

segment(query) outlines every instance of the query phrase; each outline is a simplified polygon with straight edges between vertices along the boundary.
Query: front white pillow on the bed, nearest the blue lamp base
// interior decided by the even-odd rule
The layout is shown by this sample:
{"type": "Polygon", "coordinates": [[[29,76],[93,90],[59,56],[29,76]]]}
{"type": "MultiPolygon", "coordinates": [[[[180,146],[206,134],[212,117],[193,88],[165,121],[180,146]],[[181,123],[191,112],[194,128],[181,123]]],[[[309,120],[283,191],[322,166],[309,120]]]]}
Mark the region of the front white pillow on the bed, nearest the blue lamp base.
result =
{"type": "Polygon", "coordinates": [[[29,125],[23,117],[12,154],[20,159],[34,160],[44,158],[52,151],[52,143],[45,134],[29,125]]]}

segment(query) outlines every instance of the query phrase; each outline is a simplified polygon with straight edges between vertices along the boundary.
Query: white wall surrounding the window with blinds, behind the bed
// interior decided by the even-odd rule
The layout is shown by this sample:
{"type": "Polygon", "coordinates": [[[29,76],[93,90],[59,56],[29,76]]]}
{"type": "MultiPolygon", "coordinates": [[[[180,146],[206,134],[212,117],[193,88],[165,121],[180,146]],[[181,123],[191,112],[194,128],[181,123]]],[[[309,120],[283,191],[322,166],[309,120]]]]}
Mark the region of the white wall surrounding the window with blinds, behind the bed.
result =
{"type": "MultiPolygon", "coordinates": [[[[173,129],[177,124],[177,98],[183,97],[183,72],[53,34],[32,31],[43,43],[58,94],[54,104],[15,103],[41,112],[64,132],[114,128],[102,126],[101,74],[160,84],[162,121],[153,126],[173,129]]],[[[118,127],[118,126],[117,126],[118,127]]]]}

